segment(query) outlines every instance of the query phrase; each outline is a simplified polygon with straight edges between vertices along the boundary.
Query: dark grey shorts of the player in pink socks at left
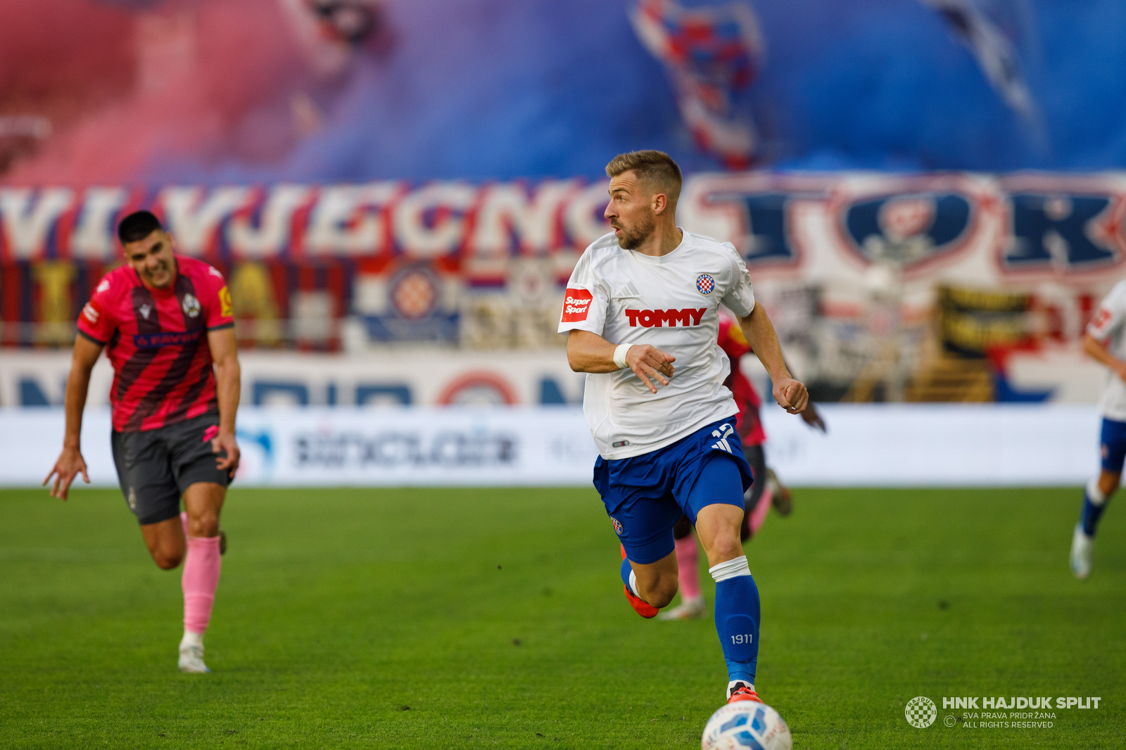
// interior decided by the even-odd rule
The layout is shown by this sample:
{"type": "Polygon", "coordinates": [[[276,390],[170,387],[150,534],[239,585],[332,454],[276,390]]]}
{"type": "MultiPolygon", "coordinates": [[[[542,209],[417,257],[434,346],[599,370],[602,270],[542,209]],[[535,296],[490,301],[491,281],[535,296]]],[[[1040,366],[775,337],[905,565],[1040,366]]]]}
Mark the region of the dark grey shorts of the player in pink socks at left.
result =
{"type": "Polygon", "coordinates": [[[180,495],[196,482],[226,486],[226,472],[215,466],[225,450],[212,453],[218,414],[202,414],[140,432],[113,432],[117,480],[129,510],[141,525],[180,515],[180,495]]]}

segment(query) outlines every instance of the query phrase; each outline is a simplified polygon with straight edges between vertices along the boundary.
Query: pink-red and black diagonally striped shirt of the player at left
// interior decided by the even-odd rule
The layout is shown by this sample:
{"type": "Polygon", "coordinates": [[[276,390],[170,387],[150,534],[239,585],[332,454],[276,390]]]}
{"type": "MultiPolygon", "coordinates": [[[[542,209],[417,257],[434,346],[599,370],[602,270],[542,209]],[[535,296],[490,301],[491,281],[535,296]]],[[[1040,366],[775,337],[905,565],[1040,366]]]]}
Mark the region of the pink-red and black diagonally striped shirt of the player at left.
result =
{"type": "Polygon", "coordinates": [[[207,331],[234,325],[231,295],[213,267],[176,256],[176,279],[150,289],[128,266],[98,284],[78,319],[81,336],[106,347],[109,402],[118,432],[152,430],[218,413],[207,331]]]}

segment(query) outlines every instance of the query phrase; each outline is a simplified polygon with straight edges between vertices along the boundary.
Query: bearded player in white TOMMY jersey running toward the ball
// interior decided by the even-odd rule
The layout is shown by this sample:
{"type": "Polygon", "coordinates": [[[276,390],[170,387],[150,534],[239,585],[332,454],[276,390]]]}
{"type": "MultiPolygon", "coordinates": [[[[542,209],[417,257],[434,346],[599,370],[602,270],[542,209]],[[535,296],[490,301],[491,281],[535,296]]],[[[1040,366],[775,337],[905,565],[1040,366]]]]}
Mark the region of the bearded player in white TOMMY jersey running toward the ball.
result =
{"type": "Polygon", "coordinates": [[[625,595],[642,617],[672,600],[672,527],[687,514],[716,581],[727,700],[759,700],[759,591],[739,535],[752,477],[723,385],[721,303],[770,374],[775,400],[797,414],[808,394],[787,372],[735,248],[677,226],[677,163],[635,151],[615,157],[606,173],[614,232],[579,259],[560,332],[569,332],[571,368],[588,373],[583,412],[600,454],[595,486],[622,542],[625,595]]]}

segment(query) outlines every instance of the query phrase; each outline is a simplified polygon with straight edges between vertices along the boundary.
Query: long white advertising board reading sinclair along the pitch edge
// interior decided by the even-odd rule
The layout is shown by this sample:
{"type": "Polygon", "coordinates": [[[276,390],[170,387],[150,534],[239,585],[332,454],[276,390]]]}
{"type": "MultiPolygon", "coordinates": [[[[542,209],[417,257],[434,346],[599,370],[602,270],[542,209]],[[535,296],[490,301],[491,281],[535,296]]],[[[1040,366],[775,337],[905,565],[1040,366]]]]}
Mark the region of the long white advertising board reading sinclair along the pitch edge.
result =
{"type": "MultiPolygon", "coordinates": [[[[771,466],[794,485],[1074,485],[1096,470],[1093,405],[829,404],[828,435],[763,411],[771,466]],[[1045,439],[1049,436],[1051,439],[1045,439]]],[[[87,412],[82,450],[115,486],[109,412],[87,412]]],[[[0,485],[43,480],[61,409],[0,409],[0,485]]],[[[589,486],[596,450],[577,407],[247,408],[242,486],[589,486]]]]}

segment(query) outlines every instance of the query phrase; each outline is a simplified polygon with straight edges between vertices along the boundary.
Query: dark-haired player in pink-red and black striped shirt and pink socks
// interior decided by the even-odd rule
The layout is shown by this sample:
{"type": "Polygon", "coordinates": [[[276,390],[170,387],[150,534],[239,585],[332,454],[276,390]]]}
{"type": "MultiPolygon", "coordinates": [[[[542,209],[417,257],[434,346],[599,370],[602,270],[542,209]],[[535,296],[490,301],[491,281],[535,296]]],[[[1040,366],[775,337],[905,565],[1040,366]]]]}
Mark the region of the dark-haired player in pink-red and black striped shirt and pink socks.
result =
{"type": "Polygon", "coordinates": [[[179,668],[206,672],[203,635],[224,546],[218,517],[239,467],[231,296],[215,268],[173,253],[148,211],[126,216],[117,233],[126,264],[101,279],[79,315],[63,452],[43,483],[54,476],[51,494],[65,500],[78,474],[90,481],[79,438],[90,370],[105,349],[122,493],[153,561],[164,570],[184,561],[179,668]]]}

